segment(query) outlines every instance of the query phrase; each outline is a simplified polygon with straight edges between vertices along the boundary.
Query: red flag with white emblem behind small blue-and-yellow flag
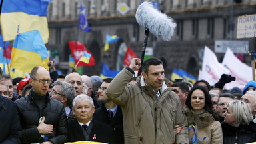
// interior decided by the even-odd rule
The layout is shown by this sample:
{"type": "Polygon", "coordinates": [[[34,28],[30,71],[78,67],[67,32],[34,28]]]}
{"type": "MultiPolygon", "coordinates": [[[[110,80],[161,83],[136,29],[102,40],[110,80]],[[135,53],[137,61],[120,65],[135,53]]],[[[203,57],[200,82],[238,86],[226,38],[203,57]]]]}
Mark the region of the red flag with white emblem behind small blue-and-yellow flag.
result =
{"type": "Polygon", "coordinates": [[[83,43],[80,43],[79,41],[68,41],[68,43],[69,43],[69,48],[71,50],[71,53],[75,59],[75,64],[77,64],[80,57],[83,55],[83,53],[85,53],[85,51],[87,53],[91,54],[89,63],[84,63],[83,61],[79,61],[79,64],[77,65],[77,67],[80,67],[82,65],[87,65],[87,66],[95,65],[95,59],[94,59],[91,51],[88,51],[86,49],[85,45],[83,45],[83,43]]]}

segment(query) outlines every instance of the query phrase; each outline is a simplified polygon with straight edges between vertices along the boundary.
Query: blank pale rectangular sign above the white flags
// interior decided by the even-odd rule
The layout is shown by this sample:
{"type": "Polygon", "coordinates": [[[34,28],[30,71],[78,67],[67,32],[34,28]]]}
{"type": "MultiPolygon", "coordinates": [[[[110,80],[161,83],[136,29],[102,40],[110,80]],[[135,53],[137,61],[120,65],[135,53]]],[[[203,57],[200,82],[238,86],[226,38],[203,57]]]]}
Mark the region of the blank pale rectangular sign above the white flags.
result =
{"type": "Polygon", "coordinates": [[[228,47],[233,53],[247,53],[249,41],[215,40],[215,53],[225,53],[228,47]]]}

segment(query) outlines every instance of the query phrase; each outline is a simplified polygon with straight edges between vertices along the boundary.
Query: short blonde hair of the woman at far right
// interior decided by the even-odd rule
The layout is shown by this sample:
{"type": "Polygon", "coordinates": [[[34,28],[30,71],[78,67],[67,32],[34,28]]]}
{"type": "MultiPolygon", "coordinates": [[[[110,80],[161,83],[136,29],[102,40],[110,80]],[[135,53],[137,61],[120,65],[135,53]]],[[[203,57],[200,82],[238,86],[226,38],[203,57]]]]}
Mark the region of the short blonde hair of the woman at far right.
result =
{"type": "Polygon", "coordinates": [[[249,125],[249,123],[253,121],[251,108],[247,103],[239,100],[233,100],[227,103],[227,107],[233,112],[233,115],[238,123],[237,127],[240,124],[249,125]]]}

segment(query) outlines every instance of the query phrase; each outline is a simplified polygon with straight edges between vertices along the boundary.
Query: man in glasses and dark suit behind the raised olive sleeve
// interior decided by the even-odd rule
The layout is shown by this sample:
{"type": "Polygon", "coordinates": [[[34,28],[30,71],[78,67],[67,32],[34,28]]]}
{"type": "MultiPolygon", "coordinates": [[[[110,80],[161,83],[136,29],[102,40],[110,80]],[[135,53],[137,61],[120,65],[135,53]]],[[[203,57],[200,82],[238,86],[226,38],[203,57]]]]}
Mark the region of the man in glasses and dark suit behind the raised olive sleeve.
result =
{"type": "Polygon", "coordinates": [[[97,121],[111,126],[115,133],[115,142],[121,144],[124,143],[122,109],[117,104],[113,103],[105,93],[105,90],[112,80],[112,78],[103,79],[103,83],[98,89],[98,100],[102,102],[102,105],[100,108],[95,109],[93,117],[97,121]]]}

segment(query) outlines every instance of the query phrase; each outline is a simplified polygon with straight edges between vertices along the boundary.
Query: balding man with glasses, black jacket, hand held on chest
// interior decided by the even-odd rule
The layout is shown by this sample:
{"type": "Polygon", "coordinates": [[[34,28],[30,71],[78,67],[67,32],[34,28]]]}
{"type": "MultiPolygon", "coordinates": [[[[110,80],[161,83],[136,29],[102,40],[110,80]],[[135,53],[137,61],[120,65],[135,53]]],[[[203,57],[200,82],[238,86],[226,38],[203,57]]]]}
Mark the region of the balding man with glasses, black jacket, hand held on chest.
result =
{"type": "Polygon", "coordinates": [[[31,70],[29,95],[17,99],[15,105],[21,120],[21,143],[65,143],[67,118],[63,104],[49,97],[50,74],[45,67],[31,70]]]}

